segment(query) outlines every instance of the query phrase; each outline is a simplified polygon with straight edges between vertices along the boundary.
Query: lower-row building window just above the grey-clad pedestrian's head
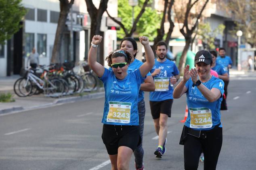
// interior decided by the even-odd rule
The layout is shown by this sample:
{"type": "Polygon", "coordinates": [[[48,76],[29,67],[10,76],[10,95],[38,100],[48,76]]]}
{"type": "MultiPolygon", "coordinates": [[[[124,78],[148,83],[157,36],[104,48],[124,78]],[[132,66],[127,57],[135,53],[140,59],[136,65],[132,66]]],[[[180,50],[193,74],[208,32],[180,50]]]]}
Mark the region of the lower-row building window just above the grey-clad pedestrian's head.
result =
{"type": "Polygon", "coordinates": [[[25,57],[28,57],[32,48],[35,47],[35,35],[34,33],[24,33],[23,37],[23,51],[25,57]]]}

